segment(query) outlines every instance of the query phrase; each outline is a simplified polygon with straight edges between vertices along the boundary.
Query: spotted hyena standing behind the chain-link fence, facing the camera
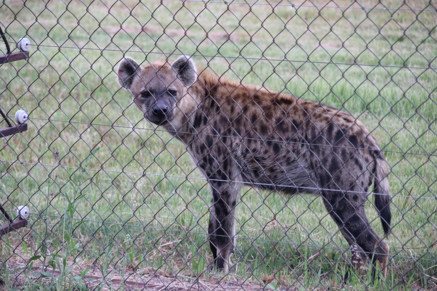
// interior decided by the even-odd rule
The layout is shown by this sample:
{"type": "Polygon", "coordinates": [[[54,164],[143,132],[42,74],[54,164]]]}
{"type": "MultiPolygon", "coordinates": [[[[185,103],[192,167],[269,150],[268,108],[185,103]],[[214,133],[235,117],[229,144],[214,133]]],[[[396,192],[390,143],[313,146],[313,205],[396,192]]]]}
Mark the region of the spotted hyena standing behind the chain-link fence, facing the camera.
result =
{"type": "Polygon", "coordinates": [[[387,168],[360,121],[322,103],[218,78],[185,56],[144,68],[124,58],[118,82],[146,119],[187,146],[208,179],[208,234],[218,270],[229,269],[239,190],[249,184],[322,196],[355,256],[372,258],[385,275],[388,245],[369,225],[364,204],[375,181],[375,206],[387,234],[387,168]]]}

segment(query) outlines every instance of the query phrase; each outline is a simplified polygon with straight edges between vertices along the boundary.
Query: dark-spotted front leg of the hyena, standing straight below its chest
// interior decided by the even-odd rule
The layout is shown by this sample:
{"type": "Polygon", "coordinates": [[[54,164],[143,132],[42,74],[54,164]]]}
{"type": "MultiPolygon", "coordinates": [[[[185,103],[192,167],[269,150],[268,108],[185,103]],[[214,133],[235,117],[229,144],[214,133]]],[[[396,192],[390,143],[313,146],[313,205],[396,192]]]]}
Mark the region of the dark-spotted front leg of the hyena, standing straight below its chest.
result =
{"type": "Polygon", "coordinates": [[[235,207],[238,189],[235,182],[212,181],[212,205],[209,217],[209,245],[217,270],[227,272],[234,252],[235,207]]]}

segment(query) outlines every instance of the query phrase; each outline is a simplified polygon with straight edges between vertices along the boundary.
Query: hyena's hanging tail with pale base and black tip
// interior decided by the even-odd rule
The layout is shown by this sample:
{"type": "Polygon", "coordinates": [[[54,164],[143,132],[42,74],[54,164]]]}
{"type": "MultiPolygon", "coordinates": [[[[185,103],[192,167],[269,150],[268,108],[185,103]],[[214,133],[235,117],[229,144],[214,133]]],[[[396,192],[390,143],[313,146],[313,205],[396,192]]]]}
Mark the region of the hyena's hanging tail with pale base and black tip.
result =
{"type": "Polygon", "coordinates": [[[387,235],[390,232],[390,221],[392,214],[390,212],[390,195],[387,179],[387,162],[382,154],[375,159],[375,187],[373,193],[375,194],[375,206],[378,209],[379,217],[381,218],[382,228],[387,235]]]}

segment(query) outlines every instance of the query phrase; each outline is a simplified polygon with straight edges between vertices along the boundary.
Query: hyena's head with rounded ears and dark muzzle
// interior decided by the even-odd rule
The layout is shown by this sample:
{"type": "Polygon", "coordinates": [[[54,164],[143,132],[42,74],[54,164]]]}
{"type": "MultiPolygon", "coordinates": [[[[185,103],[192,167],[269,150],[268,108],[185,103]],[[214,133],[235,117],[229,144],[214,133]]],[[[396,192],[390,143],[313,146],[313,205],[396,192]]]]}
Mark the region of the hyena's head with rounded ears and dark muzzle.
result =
{"type": "Polygon", "coordinates": [[[186,116],[184,97],[197,79],[196,66],[186,56],[173,64],[148,64],[144,68],[132,58],[123,58],[118,67],[118,82],[132,92],[133,101],[150,122],[170,124],[177,129],[186,116]],[[182,111],[183,110],[183,111],[182,111]]]}

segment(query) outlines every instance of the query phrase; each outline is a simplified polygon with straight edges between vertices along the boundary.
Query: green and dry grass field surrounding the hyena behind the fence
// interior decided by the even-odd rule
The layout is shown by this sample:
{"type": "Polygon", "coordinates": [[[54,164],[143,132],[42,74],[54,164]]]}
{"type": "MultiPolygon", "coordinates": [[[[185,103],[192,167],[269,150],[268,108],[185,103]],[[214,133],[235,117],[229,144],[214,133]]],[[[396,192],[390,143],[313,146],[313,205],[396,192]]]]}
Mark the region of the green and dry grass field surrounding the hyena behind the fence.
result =
{"type": "Polygon", "coordinates": [[[105,278],[98,289],[127,288],[123,280],[110,287],[112,278],[154,275],[161,284],[177,276],[204,285],[381,289],[367,275],[342,285],[350,253],[321,199],[248,187],[237,206],[236,265],[228,275],[209,271],[208,185],[186,148],[154,130],[119,88],[114,70],[124,53],[144,64],[193,55],[218,75],[352,113],[391,168],[392,264],[382,288],[437,288],[437,14],[429,2],[437,3],[243,2],[0,5],[8,40],[27,35],[33,44],[27,62],[0,65],[2,110],[31,117],[27,131],[0,147],[0,202],[32,212],[21,236],[0,240],[7,290],[86,289],[83,278],[97,273],[105,278]]]}

